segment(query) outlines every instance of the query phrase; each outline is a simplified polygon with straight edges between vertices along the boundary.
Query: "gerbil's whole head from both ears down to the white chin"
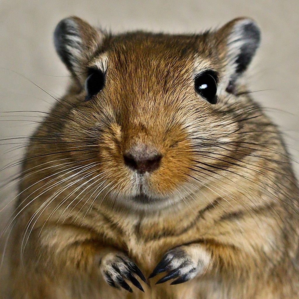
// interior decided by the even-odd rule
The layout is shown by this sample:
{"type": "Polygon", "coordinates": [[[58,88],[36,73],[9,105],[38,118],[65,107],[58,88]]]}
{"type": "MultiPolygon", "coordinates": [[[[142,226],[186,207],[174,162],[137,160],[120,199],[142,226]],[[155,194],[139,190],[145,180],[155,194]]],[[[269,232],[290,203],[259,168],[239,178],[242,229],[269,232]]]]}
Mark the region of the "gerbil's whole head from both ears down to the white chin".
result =
{"type": "Polygon", "coordinates": [[[55,46],[77,92],[57,135],[82,148],[74,161],[97,164],[86,181],[99,200],[136,209],[189,200],[244,155],[234,151],[250,129],[242,119],[257,112],[244,113],[239,80],[258,44],[249,19],[193,36],[111,36],[62,20],[55,46]]]}

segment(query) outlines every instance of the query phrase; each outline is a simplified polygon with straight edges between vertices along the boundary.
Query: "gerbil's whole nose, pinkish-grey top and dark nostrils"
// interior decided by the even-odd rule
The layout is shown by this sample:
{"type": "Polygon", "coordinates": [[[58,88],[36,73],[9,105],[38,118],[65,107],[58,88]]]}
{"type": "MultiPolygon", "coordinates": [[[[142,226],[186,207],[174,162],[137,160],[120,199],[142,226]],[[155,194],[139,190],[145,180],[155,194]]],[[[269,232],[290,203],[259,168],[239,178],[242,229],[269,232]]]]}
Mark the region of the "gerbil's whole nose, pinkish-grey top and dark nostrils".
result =
{"type": "Polygon", "coordinates": [[[161,158],[162,155],[156,149],[145,144],[137,144],[123,155],[126,166],[140,174],[158,169],[161,158]]]}

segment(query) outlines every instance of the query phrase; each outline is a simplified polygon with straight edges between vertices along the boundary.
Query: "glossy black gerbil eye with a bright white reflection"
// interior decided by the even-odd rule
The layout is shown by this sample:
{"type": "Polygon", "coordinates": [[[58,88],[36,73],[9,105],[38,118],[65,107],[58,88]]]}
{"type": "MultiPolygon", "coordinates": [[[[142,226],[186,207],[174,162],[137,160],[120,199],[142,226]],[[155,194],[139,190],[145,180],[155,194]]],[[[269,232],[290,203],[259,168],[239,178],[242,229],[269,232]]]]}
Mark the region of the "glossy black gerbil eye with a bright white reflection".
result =
{"type": "Polygon", "coordinates": [[[194,86],[196,92],[205,98],[209,103],[216,104],[217,103],[217,76],[214,72],[204,72],[194,80],[194,86]]]}

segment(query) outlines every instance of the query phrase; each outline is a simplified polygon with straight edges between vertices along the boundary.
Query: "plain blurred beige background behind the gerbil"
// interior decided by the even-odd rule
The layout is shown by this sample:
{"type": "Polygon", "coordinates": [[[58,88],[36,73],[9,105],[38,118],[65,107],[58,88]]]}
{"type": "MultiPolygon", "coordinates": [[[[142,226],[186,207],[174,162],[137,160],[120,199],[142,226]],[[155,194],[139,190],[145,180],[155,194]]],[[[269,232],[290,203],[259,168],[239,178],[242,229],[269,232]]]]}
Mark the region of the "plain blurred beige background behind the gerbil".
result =
{"type": "MultiPolygon", "coordinates": [[[[12,111],[0,113],[0,234],[11,213],[8,203],[16,196],[16,184],[8,182],[19,171],[24,138],[42,116],[13,111],[48,111],[54,103],[30,80],[54,96],[63,95],[68,72],[55,53],[52,33],[60,19],[70,15],[112,32],[196,33],[238,16],[255,19],[262,43],[249,71],[249,86],[299,160],[298,0],[0,0],[0,111],[12,111]]],[[[294,167],[299,173],[299,164],[294,162],[294,167]]],[[[0,273],[4,270],[5,258],[0,273]]],[[[0,285],[4,283],[2,275],[0,285]]]]}

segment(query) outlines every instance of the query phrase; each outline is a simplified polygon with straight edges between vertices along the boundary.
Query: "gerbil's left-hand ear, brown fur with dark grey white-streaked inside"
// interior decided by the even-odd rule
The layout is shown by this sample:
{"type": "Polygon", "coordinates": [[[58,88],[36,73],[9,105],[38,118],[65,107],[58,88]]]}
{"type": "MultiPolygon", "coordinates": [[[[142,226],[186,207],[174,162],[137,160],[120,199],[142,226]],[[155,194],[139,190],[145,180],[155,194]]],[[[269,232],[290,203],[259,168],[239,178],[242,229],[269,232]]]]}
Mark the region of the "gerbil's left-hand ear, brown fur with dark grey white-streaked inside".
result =
{"type": "Polygon", "coordinates": [[[73,75],[80,75],[84,65],[99,48],[104,34],[82,19],[71,16],[61,20],[54,30],[56,51],[73,75]]]}

